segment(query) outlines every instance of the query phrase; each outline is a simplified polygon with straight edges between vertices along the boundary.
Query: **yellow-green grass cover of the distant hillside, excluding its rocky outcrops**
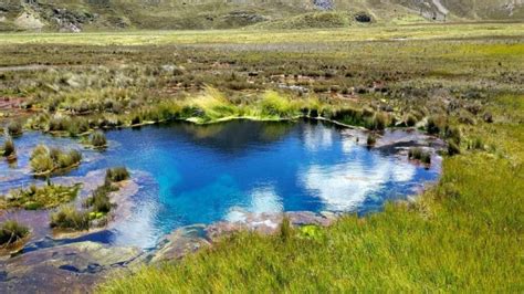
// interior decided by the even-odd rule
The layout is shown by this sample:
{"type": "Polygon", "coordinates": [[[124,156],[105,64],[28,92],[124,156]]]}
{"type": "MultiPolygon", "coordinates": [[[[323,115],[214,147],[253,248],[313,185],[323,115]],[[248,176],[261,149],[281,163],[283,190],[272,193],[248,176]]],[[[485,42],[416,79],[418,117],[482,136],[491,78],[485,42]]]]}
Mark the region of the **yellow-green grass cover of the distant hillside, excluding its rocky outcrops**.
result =
{"type": "MultiPolygon", "coordinates": [[[[430,0],[425,0],[431,3],[430,0]]],[[[337,13],[327,21],[307,22],[307,13],[315,11],[312,1],[306,0],[284,0],[284,1],[233,1],[226,3],[218,0],[182,1],[139,1],[139,0],[39,0],[39,9],[31,6],[22,7],[19,0],[8,0],[0,4],[0,9],[7,9],[7,21],[0,23],[0,31],[14,30],[14,18],[22,11],[29,11],[40,15],[48,27],[44,30],[56,30],[57,24],[53,20],[53,9],[66,9],[76,15],[88,12],[91,15],[97,14],[93,22],[80,24],[83,30],[107,30],[107,29],[232,29],[251,25],[254,23],[265,23],[269,28],[332,28],[347,27],[353,23],[353,17],[347,19],[340,13],[365,11],[374,17],[378,23],[416,23],[428,20],[420,17],[420,3],[415,0],[335,0],[334,8],[337,13]],[[44,13],[42,10],[45,10],[44,13]],[[46,17],[44,17],[46,15],[46,17]],[[298,19],[296,19],[298,18],[298,19]],[[335,18],[335,21],[334,21],[335,18]],[[273,23],[275,22],[275,23],[273,23]],[[298,24],[294,27],[294,24],[298,24]]],[[[448,20],[522,20],[524,8],[516,7],[513,13],[502,9],[505,0],[460,0],[442,1],[444,7],[451,11],[448,20]]],[[[434,10],[434,6],[422,6],[429,11],[434,10]]],[[[310,15],[311,17],[311,15],[310,15]]],[[[62,17],[57,17],[62,18],[62,17]]],[[[322,18],[321,18],[322,20],[322,18]]],[[[265,25],[263,25],[265,27],[265,25]]]]}

